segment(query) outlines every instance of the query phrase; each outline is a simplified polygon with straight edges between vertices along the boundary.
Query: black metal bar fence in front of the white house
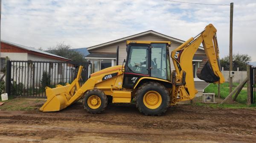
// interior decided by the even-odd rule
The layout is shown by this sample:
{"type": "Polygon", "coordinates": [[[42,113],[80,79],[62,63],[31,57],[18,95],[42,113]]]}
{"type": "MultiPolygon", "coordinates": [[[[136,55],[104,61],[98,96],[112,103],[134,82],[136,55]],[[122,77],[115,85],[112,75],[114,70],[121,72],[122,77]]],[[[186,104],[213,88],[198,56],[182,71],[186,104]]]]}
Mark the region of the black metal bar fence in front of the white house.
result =
{"type": "Polygon", "coordinates": [[[84,66],[82,82],[88,79],[88,63],[49,61],[7,61],[6,92],[18,97],[46,97],[45,87],[71,83],[79,65],[84,66]]]}

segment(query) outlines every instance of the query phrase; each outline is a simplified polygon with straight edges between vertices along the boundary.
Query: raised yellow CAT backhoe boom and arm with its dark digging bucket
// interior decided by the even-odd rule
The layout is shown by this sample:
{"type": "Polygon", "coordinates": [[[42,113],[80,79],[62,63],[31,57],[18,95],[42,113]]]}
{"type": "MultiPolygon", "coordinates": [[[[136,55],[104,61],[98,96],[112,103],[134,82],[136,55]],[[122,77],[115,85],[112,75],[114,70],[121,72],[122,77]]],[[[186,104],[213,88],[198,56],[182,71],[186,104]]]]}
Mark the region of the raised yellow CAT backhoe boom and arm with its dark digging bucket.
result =
{"type": "MultiPolygon", "coordinates": [[[[209,24],[198,36],[192,37],[182,45],[172,51],[171,57],[175,67],[173,73],[173,94],[178,94],[180,99],[177,101],[190,100],[195,97],[198,91],[195,89],[192,59],[201,43],[207,59],[203,60],[203,66],[199,68],[198,77],[209,83],[223,83],[224,76],[220,71],[219,51],[216,38],[216,28],[209,24]]],[[[177,95],[175,96],[177,97],[177,95]]]]}

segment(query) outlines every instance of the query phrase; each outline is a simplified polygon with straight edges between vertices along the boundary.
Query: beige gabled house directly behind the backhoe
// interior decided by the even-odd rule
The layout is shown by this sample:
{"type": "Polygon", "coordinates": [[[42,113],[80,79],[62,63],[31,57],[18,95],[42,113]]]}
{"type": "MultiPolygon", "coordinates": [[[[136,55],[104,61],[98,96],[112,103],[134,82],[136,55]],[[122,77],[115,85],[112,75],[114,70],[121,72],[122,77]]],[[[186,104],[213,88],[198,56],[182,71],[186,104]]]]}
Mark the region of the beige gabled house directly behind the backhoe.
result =
{"type": "MultiPolygon", "coordinates": [[[[175,48],[177,48],[178,46],[180,46],[182,43],[185,42],[183,40],[173,38],[171,36],[167,36],[167,35],[158,33],[156,31],[150,30],[150,31],[139,33],[139,34],[127,36],[124,38],[116,39],[110,42],[102,43],[99,45],[91,46],[87,48],[90,54],[85,56],[85,59],[90,60],[90,62],[92,63],[92,66],[91,66],[92,73],[107,67],[115,66],[116,63],[118,63],[119,65],[122,64],[122,62],[124,61],[124,59],[126,59],[126,56],[127,56],[126,43],[125,43],[127,40],[171,41],[171,48],[169,48],[169,53],[171,53],[172,50],[174,50],[175,48]],[[118,59],[116,59],[117,46],[119,46],[118,59]]],[[[196,76],[196,71],[199,67],[200,62],[205,57],[206,57],[206,54],[204,52],[204,48],[199,47],[193,58],[193,68],[194,68],[193,73],[194,73],[195,81],[201,81],[196,76]]],[[[171,70],[175,70],[175,67],[172,62],[171,62],[171,70]]],[[[203,83],[200,82],[200,86],[201,84],[203,83]]],[[[204,86],[201,86],[200,88],[203,88],[203,87],[204,86]]]]}

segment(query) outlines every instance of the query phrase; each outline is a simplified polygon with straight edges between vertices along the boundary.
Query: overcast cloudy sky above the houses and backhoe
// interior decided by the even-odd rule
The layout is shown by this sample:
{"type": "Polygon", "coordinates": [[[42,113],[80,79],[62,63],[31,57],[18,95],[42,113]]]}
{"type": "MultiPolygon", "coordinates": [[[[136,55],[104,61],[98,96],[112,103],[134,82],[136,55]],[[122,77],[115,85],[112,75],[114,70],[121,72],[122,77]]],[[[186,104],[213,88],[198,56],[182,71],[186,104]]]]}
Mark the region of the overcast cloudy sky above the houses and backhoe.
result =
{"type": "MultiPolygon", "coordinates": [[[[176,0],[234,2],[233,53],[256,61],[256,0],[176,0]]],[[[187,40],[212,23],[221,57],[229,53],[230,6],[165,0],[2,0],[1,39],[47,49],[58,42],[84,48],[154,30],[187,40]]]]}

